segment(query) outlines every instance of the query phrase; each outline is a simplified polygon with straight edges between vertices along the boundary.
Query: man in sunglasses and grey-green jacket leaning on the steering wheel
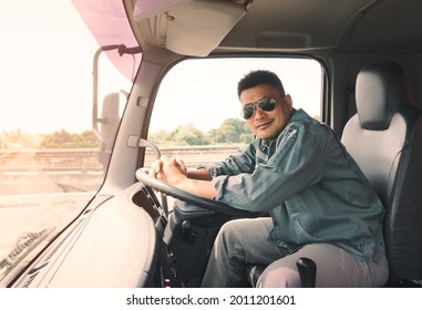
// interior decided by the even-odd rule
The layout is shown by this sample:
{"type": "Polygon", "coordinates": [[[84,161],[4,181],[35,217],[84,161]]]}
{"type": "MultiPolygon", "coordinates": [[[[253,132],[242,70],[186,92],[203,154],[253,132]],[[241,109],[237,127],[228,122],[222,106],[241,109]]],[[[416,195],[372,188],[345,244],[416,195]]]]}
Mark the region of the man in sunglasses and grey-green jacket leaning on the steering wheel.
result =
{"type": "Polygon", "coordinates": [[[248,286],[246,265],[259,264],[269,267],[258,287],[300,287],[300,257],[316,261],[317,287],[384,285],[383,207],[336,134],[295,110],[272,72],[245,75],[238,96],[250,145],[202,169],[175,158],[151,169],[187,192],[270,214],[222,227],[202,286],[248,286]]]}

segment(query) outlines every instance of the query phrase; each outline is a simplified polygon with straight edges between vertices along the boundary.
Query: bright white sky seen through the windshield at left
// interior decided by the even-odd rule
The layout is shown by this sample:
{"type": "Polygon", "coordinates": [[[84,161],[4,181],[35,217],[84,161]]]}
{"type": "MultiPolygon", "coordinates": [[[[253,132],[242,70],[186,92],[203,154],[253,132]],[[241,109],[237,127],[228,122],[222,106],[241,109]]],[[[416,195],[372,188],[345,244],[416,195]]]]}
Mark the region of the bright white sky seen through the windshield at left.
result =
{"type": "Polygon", "coordinates": [[[0,38],[0,131],[90,128],[97,44],[71,1],[1,1],[0,38]]]}

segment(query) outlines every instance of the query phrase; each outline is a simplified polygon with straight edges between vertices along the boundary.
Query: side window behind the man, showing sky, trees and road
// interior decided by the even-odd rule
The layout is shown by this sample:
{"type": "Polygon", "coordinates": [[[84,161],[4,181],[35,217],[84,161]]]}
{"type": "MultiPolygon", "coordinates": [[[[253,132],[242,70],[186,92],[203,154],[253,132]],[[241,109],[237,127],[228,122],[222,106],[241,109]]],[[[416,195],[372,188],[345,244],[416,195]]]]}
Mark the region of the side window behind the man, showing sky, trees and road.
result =
{"type": "MultiPolygon", "coordinates": [[[[251,135],[240,117],[237,82],[251,70],[278,74],[294,107],[320,120],[321,65],[310,59],[187,60],[174,66],[158,90],[148,140],[187,166],[225,158],[251,135]]],[[[145,166],[152,154],[147,153],[145,166]]]]}

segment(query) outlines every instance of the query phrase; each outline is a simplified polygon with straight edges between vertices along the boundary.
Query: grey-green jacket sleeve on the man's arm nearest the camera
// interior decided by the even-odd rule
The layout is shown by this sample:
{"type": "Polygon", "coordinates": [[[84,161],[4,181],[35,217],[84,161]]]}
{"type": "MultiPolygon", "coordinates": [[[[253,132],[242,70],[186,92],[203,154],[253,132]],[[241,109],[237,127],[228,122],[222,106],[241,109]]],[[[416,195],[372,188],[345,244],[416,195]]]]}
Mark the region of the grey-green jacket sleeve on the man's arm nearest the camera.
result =
{"type": "Polygon", "coordinates": [[[281,205],[321,179],[323,152],[319,140],[303,125],[290,126],[279,136],[276,152],[266,164],[256,165],[251,173],[215,177],[214,199],[250,211],[268,211],[281,205]]]}

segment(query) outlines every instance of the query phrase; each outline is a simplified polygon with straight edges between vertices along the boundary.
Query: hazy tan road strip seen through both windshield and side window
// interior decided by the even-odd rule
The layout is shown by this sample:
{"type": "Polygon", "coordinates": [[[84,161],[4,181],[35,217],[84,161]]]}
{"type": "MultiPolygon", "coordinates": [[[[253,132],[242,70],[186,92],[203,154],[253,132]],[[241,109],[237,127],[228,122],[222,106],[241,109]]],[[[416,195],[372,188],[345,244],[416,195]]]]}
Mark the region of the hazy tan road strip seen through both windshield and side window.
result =
{"type": "MultiPolygon", "coordinates": [[[[166,147],[162,154],[196,167],[220,161],[238,146],[166,147]]],[[[147,149],[145,166],[154,159],[147,149]]],[[[96,149],[0,151],[0,196],[94,192],[103,182],[96,149]]]]}

